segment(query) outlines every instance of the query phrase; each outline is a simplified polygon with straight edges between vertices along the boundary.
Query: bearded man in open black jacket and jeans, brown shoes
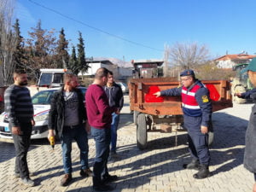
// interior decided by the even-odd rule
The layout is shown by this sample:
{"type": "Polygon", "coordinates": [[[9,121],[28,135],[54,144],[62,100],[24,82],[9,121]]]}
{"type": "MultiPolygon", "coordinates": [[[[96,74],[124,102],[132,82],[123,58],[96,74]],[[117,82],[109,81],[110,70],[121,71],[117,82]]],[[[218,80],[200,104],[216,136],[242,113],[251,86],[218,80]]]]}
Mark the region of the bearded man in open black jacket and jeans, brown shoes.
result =
{"type": "Polygon", "coordinates": [[[55,136],[54,130],[61,138],[62,160],[65,176],[61,178],[61,186],[67,186],[72,180],[71,150],[73,139],[80,149],[82,177],[89,177],[92,172],[88,166],[88,138],[85,130],[87,120],[84,108],[84,96],[77,89],[78,79],[74,74],[64,75],[64,86],[55,92],[49,110],[48,138],[55,136]]]}

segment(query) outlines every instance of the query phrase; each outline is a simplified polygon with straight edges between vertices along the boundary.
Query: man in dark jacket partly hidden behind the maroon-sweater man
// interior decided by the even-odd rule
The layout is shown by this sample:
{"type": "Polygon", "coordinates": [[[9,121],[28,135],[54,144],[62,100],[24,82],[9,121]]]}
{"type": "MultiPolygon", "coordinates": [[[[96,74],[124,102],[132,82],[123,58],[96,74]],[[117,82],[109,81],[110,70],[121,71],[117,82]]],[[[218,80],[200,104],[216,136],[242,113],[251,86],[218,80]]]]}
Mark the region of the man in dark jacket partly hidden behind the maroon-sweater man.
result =
{"type": "Polygon", "coordinates": [[[108,96],[109,106],[117,108],[115,112],[112,113],[112,123],[111,123],[111,150],[110,157],[117,157],[116,154],[116,141],[117,141],[117,129],[119,126],[119,113],[123,108],[124,96],[119,84],[116,84],[113,79],[113,73],[108,73],[108,83],[104,87],[104,90],[108,96]]]}

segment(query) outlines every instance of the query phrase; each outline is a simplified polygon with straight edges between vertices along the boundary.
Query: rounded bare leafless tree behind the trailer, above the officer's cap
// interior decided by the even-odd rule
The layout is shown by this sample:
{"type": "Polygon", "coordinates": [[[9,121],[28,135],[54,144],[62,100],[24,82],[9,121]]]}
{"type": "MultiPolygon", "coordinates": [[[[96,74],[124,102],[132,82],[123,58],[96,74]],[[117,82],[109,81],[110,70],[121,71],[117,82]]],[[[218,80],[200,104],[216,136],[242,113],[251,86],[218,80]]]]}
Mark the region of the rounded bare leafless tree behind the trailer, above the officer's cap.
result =
{"type": "Polygon", "coordinates": [[[166,49],[170,55],[172,65],[181,69],[193,69],[204,64],[209,59],[209,50],[206,45],[197,43],[180,44],[176,43],[170,49],[166,49]]]}

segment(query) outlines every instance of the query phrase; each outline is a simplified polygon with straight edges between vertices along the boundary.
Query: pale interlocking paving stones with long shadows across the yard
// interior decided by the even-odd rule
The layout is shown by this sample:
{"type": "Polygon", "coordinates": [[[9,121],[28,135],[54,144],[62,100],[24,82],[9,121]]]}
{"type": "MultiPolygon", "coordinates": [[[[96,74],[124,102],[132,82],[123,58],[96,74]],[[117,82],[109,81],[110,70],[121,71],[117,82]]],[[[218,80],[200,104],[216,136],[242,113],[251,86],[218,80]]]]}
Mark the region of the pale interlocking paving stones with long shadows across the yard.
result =
{"type": "MultiPolygon", "coordinates": [[[[108,164],[109,172],[119,176],[113,183],[114,191],[172,191],[172,192],[248,192],[252,191],[253,174],[242,166],[244,135],[252,104],[213,113],[215,140],[211,148],[212,177],[195,180],[195,171],[183,170],[189,153],[186,133],[178,133],[177,147],[174,133],[148,133],[148,148],[137,149],[136,127],[132,123],[128,96],[121,114],[118,131],[118,153],[121,160],[108,164]]],[[[90,166],[93,165],[95,148],[90,137],[90,166]]],[[[92,191],[92,180],[79,176],[79,150],[73,143],[73,177],[68,187],[60,187],[63,174],[61,146],[52,151],[46,140],[33,141],[28,153],[28,165],[34,172],[37,186],[26,188],[13,177],[15,148],[12,143],[0,142],[0,191],[92,191]]]]}

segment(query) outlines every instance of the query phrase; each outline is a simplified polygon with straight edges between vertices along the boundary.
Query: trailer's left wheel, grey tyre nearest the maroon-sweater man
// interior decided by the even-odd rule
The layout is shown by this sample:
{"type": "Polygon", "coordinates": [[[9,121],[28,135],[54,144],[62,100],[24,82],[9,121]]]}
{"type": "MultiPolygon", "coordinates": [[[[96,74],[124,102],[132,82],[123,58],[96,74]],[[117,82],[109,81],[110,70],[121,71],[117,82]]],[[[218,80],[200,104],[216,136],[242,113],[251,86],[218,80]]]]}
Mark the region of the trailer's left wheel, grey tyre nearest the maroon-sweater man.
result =
{"type": "Polygon", "coordinates": [[[144,149],[147,147],[147,122],[143,113],[137,115],[137,148],[144,149]]]}

